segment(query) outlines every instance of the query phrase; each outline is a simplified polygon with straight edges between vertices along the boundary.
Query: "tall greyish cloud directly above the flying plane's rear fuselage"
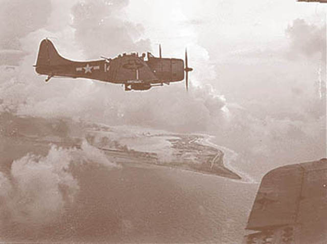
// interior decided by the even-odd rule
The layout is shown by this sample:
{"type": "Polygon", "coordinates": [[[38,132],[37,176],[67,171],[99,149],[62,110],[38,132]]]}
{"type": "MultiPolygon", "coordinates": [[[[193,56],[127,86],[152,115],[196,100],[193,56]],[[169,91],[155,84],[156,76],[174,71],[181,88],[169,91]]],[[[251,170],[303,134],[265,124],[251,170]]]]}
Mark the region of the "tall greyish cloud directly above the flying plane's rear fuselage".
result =
{"type": "Polygon", "coordinates": [[[115,56],[123,52],[144,52],[150,41],[140,39],[141,25],[121,16],[128,1],[81,1],[72,8],[76,40],[88,58],[115,56]]]}

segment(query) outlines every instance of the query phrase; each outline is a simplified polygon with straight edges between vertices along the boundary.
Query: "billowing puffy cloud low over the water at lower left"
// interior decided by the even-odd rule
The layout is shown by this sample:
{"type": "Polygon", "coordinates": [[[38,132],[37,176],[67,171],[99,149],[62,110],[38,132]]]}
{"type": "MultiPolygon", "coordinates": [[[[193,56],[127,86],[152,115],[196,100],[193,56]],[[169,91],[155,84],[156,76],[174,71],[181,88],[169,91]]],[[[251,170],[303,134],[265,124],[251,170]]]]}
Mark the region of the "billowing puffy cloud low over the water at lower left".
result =
{"type": "Polygon", "coordinates": [[[15,160],[9,175],[0,172],[0,214],[22,224],[53,223],[74,203],[80,190],[72,165],[85,163],[119,167],[86,142],[82,150],[53,145],[44,157],[28,153],[15,160]]]}

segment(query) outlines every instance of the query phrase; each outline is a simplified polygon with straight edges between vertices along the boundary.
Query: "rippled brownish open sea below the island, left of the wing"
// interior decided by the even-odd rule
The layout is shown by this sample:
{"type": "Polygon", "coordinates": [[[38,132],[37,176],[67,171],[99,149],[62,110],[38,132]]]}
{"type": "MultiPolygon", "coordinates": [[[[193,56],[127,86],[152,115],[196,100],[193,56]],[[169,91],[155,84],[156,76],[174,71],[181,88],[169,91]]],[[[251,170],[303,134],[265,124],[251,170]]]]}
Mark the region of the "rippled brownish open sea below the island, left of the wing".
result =
{"type": "MultiPolygon", "coordinates": [[[[169,168],[73,168],[72,202],[40,199],[28,220],[7,216],[2,241],[239,243],[256,191],[252,184],[169,168]],[[43,204],[55,206],[44,210],[43,204]]],[[[28,190],[39,194],[37,187],[28,190]]],[[[49,199],[45,191],[34,197],[49,199]]]]}

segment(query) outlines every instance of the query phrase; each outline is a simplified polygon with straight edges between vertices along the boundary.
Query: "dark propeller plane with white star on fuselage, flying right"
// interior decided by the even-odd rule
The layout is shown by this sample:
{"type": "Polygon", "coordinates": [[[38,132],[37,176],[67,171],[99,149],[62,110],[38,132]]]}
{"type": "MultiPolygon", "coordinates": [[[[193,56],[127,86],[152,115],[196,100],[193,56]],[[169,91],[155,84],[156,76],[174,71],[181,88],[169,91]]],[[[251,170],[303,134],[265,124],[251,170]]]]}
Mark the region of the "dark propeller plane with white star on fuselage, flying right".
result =
{"type": "Polygon", "coordinates": [[[123,84],[125,91],[149,90],[153,86],[162,86],[184,79],[186,91],[189,89],[188,53],[185,49],[184,61],[177,58],[162,58],[161,46],[159,57],[150,52],[139,56],[137,53],[118,55],[115,58],[101,56],[100,60],[72,61],[63,58],[57,52],[52,41],[48,38],[40,43],[35,71],[40,75],[48,75],[45,82],[52,77],[86,78],[104,82],[123,84]]]}

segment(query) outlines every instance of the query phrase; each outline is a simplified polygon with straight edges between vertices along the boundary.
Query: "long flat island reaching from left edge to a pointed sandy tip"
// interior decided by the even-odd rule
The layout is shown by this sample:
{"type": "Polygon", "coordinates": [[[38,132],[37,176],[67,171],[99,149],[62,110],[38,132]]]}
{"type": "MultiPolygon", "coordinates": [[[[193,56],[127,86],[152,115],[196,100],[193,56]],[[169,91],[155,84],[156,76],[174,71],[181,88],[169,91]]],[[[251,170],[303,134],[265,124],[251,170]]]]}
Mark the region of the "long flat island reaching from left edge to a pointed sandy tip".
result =
{"type": "Polygon", "coordinates": [[[172,167],[241,179],[224,165],[224,152],[208,143],[205,135],[12,113],[3,113],[0,122],[0,149],[7,165],[27,153],[46,155],[53,145],[82,150],[82,144],[87,143],[116,164],[172,167]]]}

